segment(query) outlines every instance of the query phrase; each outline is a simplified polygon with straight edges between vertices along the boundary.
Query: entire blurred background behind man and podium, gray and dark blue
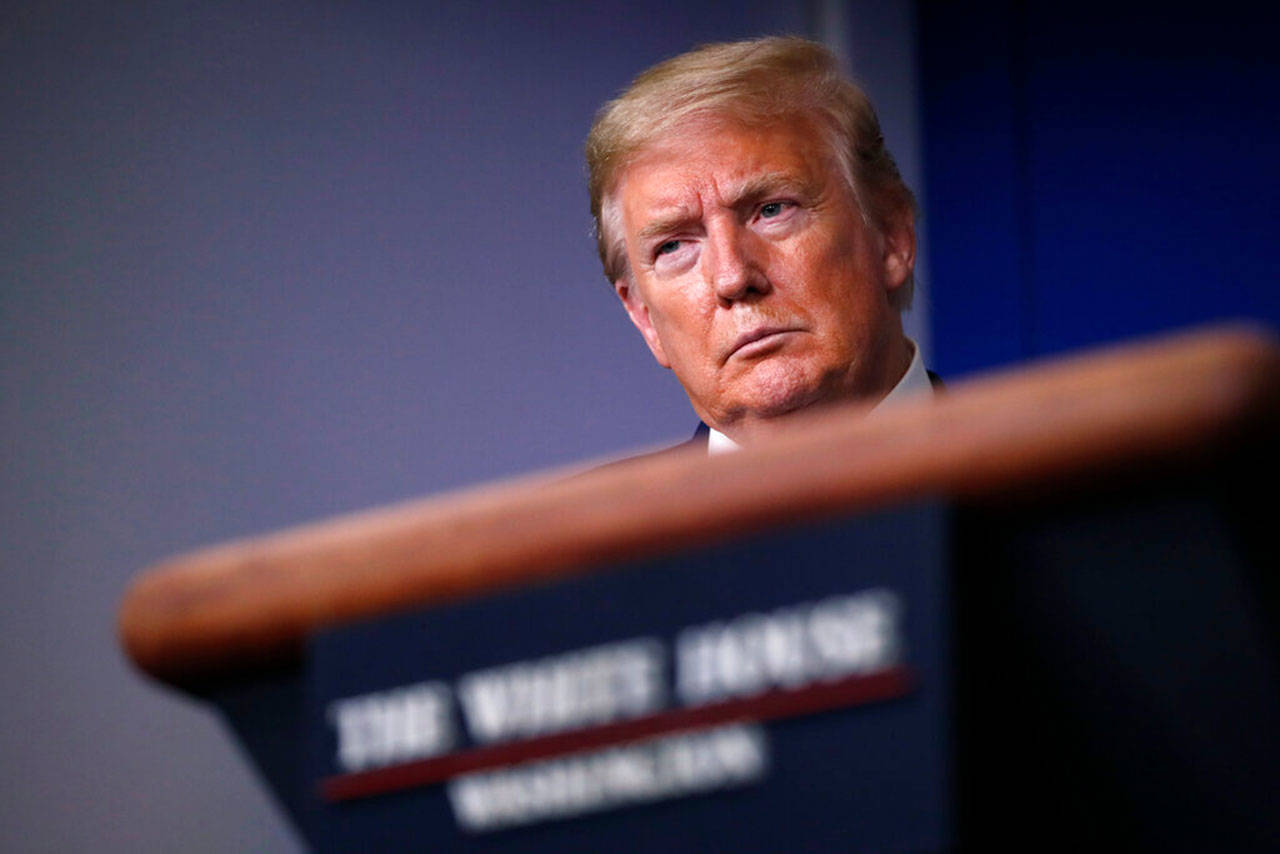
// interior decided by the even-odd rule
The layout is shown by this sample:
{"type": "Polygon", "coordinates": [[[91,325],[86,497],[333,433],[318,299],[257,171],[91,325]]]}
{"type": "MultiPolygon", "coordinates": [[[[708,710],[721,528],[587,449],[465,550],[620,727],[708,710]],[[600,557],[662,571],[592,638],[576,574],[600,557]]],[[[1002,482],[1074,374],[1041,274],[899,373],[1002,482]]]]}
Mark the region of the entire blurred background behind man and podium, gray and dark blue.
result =
{"type": "Polygon", "coordinates": [[[581,143],[646,65],[780,32],[879,108],[945,378],[1280,323],[1280,76],[1244,5],[4,4],[0,849],[298,848],[212,713],[122,657],[128,580],[686,438],[581,143]]]}

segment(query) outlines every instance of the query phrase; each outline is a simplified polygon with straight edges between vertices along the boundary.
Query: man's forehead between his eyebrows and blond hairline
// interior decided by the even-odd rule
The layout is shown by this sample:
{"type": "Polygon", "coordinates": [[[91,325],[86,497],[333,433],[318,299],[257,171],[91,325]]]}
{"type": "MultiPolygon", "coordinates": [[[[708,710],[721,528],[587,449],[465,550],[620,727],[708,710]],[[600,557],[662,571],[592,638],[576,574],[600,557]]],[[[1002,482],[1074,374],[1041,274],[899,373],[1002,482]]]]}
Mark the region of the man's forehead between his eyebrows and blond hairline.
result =
{"type": "Polygon", "coordinates": [[[820,191],[837,174],[827,134],[805,119],[767,125],[696,119],[634,155],[614,196],[627,224],[635,224],[637,215],[654,210],[731,204],[736,195],[762,183],[820,191]]]}

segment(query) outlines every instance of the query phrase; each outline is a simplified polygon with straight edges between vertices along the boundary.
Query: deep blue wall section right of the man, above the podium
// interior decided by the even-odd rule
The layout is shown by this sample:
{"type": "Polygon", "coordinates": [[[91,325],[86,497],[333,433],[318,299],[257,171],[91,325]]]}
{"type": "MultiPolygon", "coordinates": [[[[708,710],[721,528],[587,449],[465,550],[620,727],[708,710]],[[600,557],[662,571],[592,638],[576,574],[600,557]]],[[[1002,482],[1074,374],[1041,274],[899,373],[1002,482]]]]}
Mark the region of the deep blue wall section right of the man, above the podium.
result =
{"type": "Polygon", "coordinates": [[[1280,326],[1280,64],[1244,4],[920,5],[937,369],[1280,326]]]}

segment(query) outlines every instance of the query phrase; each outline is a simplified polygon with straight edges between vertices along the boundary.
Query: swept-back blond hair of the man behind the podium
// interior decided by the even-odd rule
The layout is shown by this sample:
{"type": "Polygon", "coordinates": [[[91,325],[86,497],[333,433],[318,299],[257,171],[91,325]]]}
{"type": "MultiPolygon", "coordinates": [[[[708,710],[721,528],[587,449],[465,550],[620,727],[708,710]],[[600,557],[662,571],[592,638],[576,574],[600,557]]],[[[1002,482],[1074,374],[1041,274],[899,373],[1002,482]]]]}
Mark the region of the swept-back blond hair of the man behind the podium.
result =
{"type": "MultiPolygon", "coordinates": [[[[749,127],[800,117],[817,120],[869,225],[884,233],[895,219],[915,214],[915,198],[884,147],[874,108],[840,72],[831,51],[794,36],[703,45],[641,72],[600,109],[586,137],[595,241],[609,282],[628,271],[612,198],[618,178],[643,149],[704,117],[749,127]]],[[[896,289],[900,309],[909,305],[910,291],[910,282],[896,289]]]]}

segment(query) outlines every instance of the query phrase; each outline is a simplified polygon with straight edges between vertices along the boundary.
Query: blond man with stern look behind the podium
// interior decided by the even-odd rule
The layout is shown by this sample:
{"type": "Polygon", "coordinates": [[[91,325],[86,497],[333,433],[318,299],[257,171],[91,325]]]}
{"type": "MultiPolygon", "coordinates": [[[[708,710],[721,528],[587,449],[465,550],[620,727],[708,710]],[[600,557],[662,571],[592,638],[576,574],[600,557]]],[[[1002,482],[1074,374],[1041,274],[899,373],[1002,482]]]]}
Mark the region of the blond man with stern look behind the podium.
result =
{"type": "Polygon", "coordinates": [[[915,202],[826,49],[760,38],[659,63],[600,110],[586,155],[605,275],[713,452],[929,388],[899,316],[915,202]]]}

